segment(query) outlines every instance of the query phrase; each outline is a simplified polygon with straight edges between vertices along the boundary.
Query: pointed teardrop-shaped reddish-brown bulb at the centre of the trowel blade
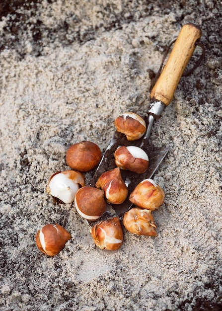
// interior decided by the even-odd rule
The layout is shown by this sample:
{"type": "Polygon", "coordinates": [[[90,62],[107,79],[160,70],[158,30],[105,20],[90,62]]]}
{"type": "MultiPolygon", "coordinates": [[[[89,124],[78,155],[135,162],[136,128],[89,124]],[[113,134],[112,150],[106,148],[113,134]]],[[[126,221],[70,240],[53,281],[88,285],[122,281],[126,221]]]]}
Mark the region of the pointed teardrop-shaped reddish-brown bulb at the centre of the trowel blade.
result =
{"type": "Polygon", "coordinates": [[[119,167],[103,173],[95,186],[104,190],[108,202],[113,204],[123,203],[128,195],[127,186],[122,179],[119,167]]]}

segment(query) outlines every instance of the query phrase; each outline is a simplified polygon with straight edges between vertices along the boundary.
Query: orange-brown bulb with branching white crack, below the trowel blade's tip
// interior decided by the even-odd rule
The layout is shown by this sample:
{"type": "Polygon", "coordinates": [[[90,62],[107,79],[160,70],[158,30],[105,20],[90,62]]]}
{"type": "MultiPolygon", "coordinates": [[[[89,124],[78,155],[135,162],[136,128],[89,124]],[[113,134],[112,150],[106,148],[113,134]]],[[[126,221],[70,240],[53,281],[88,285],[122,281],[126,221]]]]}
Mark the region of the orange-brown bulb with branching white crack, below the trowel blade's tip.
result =
{"type": "Polygon", "coordinates": [[[97,247],[107,250],[117,250],[123,244],[123,230],[119,217],[99,222],[91,229],[93,240],[97,247]]]}

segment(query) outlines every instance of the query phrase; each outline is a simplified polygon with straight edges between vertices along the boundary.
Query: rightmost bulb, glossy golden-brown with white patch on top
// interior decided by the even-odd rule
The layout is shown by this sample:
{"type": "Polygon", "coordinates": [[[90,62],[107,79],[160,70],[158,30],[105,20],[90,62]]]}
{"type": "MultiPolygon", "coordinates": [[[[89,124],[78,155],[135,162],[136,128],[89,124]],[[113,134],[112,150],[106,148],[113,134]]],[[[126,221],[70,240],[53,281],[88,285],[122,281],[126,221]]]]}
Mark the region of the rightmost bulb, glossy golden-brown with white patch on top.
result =
{"type": "Polygon", "coordinates": [[[131,193],[129,200],[136,206],[151,211],[163,204],[165,194],[163,189],[152,179],[144,179],[131,193]]]}

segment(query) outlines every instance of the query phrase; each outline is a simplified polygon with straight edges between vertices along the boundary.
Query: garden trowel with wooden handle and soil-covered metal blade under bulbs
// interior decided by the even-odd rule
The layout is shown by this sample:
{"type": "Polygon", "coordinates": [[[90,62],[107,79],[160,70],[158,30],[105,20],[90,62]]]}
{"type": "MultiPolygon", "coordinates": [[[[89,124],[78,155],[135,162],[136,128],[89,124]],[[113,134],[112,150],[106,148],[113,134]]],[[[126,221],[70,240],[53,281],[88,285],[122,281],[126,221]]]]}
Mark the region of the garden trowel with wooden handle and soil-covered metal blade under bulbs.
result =
{"type": "MultiPolygon", "coordinates": [[[[168,148],[156,148],[149,144],[149,136],[151,128],[156,119],[159,119],[164,108],[171,102],[179,80],[189,62],[196,44],[201,37],[200,28],[192,23],[183,25],[181,31],[174,43],[173,49],[168,57],[168,60],[156,80],[150,92],[150,105],[148,108],[148,117],[146,120],[147,132],[144,136],[137,140],[130,142],[124,134],[115,132],[112,136],[111,142],[107,147],[104,156],[91,180],[91,186],[95,186],[99,176],[116,167],[114,153],[120,146],[137,146],[142,148],[149,158],[148,170],[143,174],[131,172],[129,170],[121,170],[121,175],[128,187],[128,197],[135,189],[135,187],[146,178],[151,178],[162,162],[163,158],[168,152],[168,148]]],[[[134,111],[138,113],[137,111],[134,111]]],[[[125,200],[122,204],[108,204],[108,212],[104,217],[111,217],[114,215],[122,216],[126,211],[132,207],[132,203],[125,200]]]]}

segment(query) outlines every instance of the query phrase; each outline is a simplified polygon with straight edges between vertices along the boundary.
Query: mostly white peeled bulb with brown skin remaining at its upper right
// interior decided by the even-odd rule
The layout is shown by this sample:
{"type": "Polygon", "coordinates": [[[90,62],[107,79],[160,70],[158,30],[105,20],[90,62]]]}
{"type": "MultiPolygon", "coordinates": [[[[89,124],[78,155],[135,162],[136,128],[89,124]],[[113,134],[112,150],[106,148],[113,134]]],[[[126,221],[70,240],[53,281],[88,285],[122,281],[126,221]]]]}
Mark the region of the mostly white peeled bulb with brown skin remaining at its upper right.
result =
{"type": "Polygon", "coordinates": [[[85,185],[84,175],[74,170],[66,170],[53,174],[47,184],[46,192],[65,204],[74,201],[79,187],[85,185]]]}

